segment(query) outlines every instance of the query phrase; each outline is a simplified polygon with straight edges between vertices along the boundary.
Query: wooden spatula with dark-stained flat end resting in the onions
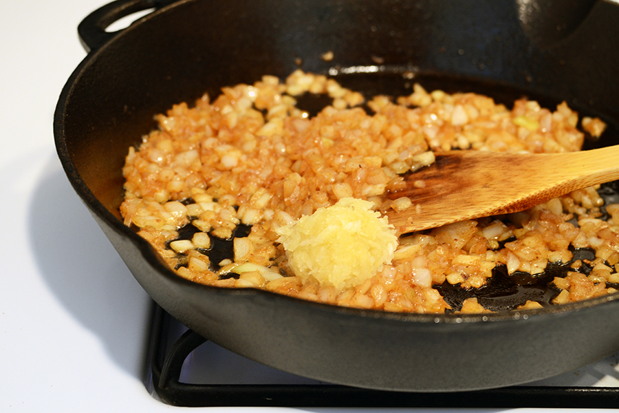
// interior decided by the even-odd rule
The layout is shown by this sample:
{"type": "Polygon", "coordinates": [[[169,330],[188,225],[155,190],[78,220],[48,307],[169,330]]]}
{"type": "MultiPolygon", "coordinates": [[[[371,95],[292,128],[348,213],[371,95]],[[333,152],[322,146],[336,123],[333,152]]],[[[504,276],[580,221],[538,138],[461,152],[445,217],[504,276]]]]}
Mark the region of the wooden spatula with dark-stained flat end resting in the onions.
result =
{"type": "Polygon", "coordinates": [[[389,209],[400,233],[523,211],[565,193],[619,179],[619,145],[569,153],[449,151],[405,176],[413,207],[389,209]]]}

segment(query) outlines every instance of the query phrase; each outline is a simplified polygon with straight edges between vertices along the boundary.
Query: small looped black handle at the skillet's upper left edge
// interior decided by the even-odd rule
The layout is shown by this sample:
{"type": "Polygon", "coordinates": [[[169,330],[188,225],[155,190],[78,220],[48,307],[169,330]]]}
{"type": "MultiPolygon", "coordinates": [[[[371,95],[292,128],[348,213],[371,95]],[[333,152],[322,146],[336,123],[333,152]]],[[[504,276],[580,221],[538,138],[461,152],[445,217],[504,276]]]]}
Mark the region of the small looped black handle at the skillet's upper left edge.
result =
{"type": "Polygon", "coordinates": [[[116,0],[91,12],[78,25],[80,41],[87,52],[105,45],[118,32],[107,32],[105,29],[122,17],[143,10],[158,10],[177,0],[116,0]]]}

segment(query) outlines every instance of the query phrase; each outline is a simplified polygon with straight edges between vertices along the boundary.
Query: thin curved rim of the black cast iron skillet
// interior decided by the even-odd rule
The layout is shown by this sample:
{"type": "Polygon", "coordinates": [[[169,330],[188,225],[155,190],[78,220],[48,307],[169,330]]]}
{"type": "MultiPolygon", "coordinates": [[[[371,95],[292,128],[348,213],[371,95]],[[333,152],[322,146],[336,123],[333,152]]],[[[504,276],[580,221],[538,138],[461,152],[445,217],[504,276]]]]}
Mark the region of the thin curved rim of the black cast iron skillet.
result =
{"type": "MultiPolygon", "coordinates": [[[[138,248],[140,255],[146,264],[151,266],[154,271],[157,271],[159,276],[164,277],[173,284],[179,284],[186,286],[187,288],[194,288],[203,290],[209,293],[217,293],[223,295],[230,295],[235,297],[239,295],[264,297],[272,299],[274,301],[287,301],[292,305],[298,306],[310,306],[314,310],[321,310],[328,313],[336,313],[346,317],[355,318],[372,318],[372,319],[385,319],[393,322],[400,322],[406,324],[485,324],[488,322],[508,322],[508,321],[526,321],[532,319],[538,319],[539,317],[552,317],[552,315],[572,313],[578,310],[591,308],[594,306],[613,305],[615,301],[619,301],[619,292],[609,295],[603,295],[601,297],[594,297],[581,301],[576,301],[568,304],[545,306],[543,308],[536,308],[532,310],[501,310],[496,313],[482,313],[482,314],[444,314],[444,313],[395,313],[387,312],[384,310],[367,310],[362,308],[351,308],[345,306],[336,306],[333,304],[324,304],[314,301],[308,301],[304,299],[298,299],[296,297],[290,297],[279,293],[272,293],[268,290],[261,290],[258,288],[228,288],[228,287],[216,287],[208,286],[205,284],[199,284],[192,282],[188,279],[184,279],[179,275],[176,275],[169,266],[164,264],[155,249],[140,235],[132,231],[128,226],[125,226],[116,216],[114,216],[103,204],[96,198],[94,193],[89,189],[83,178],[78,173],[76,166],[72,160],[72,156],[69,153],[67,147],[67,136],[65,136],[65,109],[70,103],[72,91],[78,83],[83,71],[96,60],[99,54],[105,53],[108,47],[111,47],[114,41],[116,41],[122,34],[135,30],[142,22],[151,19],[153,16],[165,12],[169,8],[175,8],[177,6],[184,5],[186,3],[193,3],[194,0],[179,0],[175,1],[167,6],[164,6],[158,10],[154,10],[150,14],[142,17],[139,21],[136,21],[128,28],[120,30],[118,32],[109,33],[109,39],[102,43],[100,47],[96,47],[94,50],[87,52],[87,56],[78,64],[75,70],[67,79],[61,94],[56,103],[56,109],[54,112],[54,140],[56,145],[56,152],[58,158],[61,161],[61,165],[65,170],[69,182],[72,187],[78,193],[81,200],[86,204],[91,213],[95,213],[98,218],[109,224],[109,227],[116,231],[121,237],[130,240],[133,245],[138,248]],[[296,304],[294,304],[296,303],[296,304]]],[[[484,81],[484,78],[479,78],[484,81]]],[[[275,304],[276,305],[276,304],[275,304]]]]}

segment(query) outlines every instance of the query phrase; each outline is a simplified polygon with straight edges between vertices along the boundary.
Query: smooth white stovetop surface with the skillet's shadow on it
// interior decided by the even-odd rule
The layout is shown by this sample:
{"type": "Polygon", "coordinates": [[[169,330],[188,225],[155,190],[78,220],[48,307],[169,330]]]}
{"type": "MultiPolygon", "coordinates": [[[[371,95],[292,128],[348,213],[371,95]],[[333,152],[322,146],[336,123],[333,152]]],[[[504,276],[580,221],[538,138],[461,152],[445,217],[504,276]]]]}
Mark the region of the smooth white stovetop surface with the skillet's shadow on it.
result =
{"type": "Polygon", "coordinates": [[[142,383],[150,299],[74,193],[54,147],[58,94],[86,56],[77,25],[105,1],[0,2],[3,412],[181,409],[153,399],[142,383]]]}

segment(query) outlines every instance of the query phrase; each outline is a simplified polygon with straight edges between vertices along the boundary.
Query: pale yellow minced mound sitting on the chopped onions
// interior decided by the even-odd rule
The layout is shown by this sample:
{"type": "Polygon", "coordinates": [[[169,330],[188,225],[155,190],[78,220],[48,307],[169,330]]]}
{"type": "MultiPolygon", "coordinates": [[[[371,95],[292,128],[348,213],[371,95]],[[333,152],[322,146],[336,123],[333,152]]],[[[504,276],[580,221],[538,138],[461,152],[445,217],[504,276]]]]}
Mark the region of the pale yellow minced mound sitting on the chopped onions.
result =
{"type": "Polygon", "coordinates": [[[294,275],[343,289],[362,284],[391,263],[398,237],[372,206],[343,198],[278,229],[294,275]]]}

